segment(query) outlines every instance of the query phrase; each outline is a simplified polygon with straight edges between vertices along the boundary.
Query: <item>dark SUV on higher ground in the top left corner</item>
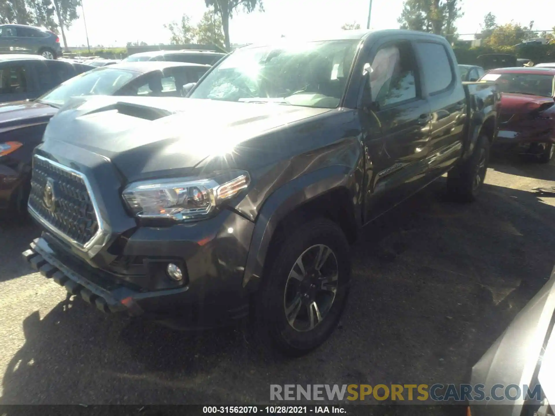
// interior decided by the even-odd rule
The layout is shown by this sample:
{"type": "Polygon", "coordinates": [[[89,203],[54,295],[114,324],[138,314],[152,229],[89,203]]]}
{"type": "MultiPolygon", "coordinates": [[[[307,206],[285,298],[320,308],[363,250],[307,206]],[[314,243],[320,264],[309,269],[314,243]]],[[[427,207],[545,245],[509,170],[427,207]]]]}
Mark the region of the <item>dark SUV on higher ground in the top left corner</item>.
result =
{"type": "Polygon", "coordinates": [[[62,47],[54,32],[23,24],[2,24],[0,53],[28,53],[56,59],[62,56],[62,47]]]}

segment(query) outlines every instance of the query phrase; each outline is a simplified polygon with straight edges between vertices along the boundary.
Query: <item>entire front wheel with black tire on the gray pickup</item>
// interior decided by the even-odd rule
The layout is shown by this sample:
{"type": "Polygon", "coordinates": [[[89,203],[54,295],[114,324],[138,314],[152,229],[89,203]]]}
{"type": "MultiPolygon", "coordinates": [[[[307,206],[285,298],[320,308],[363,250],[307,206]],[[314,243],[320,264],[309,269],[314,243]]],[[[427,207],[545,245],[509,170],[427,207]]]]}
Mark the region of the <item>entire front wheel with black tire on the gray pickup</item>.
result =
{"type": "Polygon", "coordinates": [[[335,222],[321,218],[291,227],[273,247],[256,295],[256,329],[266,346],[299,357],[320,346],[339,322],[349,294],[349,243],[335,222]],[[315,270],[322,253],[325,260],[315,270]]]}

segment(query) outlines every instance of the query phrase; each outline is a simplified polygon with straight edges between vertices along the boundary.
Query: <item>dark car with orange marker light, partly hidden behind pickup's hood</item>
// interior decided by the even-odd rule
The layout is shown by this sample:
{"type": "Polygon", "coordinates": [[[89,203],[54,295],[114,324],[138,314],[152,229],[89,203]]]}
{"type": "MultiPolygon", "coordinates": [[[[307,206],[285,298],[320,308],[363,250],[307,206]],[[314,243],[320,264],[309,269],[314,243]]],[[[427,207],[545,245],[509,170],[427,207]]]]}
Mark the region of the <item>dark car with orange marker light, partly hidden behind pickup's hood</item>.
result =
{"type": "MultiPolygon", "coordinates": [[[[72,67],[58,61],[47,64],[72,67]]],[[[70,98],[183,97],[183,85],[198,81],[209,68],[179,62],[124,62],[93,68],[37,99],[0,105],[0,210],[26,211],[33,149],[41,143],[48,121],[70,98]]]]}

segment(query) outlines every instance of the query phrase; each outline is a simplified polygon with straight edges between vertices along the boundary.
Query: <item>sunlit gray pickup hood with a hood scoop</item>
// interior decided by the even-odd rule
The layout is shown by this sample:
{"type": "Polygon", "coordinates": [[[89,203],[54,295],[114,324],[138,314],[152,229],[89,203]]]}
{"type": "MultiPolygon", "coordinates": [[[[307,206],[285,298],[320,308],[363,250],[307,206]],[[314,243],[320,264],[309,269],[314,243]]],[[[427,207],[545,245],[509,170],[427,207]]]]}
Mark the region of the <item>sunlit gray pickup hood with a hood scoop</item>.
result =
{"type": "Polygon", "coordinates": [[[88,97],[70,100],[48,124],[46,144],[109,159],[128,181],[186,174],[210,155],[330,109],[189,98],[88,97]],[[178,171],[176,171],[176,169],[178,171]]]}

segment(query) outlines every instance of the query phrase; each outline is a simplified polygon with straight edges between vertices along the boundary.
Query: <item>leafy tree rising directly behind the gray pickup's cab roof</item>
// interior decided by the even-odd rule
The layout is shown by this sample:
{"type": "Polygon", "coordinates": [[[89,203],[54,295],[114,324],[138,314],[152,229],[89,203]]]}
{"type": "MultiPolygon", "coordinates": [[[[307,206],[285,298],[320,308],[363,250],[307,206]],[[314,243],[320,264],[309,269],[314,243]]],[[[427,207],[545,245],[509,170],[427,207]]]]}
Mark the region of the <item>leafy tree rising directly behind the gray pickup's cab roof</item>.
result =
{"type": "Polygon", "coordinates": [[[453,37],[455,21],[463,13],[459,0],[405,0],[397,22],[401,29],[431,32],[453,37]]]}

